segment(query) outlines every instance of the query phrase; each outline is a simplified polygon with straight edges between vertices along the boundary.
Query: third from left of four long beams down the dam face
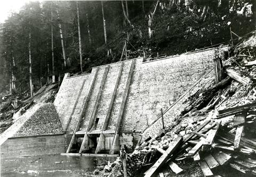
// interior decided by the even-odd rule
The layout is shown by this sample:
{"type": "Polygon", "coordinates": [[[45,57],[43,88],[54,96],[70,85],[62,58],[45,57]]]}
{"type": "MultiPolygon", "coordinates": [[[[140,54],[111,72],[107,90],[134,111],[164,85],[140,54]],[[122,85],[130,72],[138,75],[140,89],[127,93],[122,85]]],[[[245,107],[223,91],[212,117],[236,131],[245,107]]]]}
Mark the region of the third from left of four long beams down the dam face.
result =
{"type": "Polygon", "coordinates": [[[114,99],[116,97],[116,91],[117,91],[117,87],[118,87],[118,84],[119,84],[119,81],[120,81],[120,78],[121,78],[121,73],[123,71],[123,66],[124,66],[124,62],[122,62],[121,66],[120,66],[120,69],[119,69],[119,73],[118,73],[118,76],[117,76],[117,79],[116,79],[116,84],[115,84],[115,88],[114,88],[114,91],[113,91],[113,94],[112,94],[112,97],[111,97],[111,101],[110,101],[110,104],[108,106],[108,112],[107,112],[107,115],[106,115],[106,118],[105,118],[105,121],[104,121],[104,124],[103,124],[103,127],[101,129],[101,134],[100,134],[100,138],[99,138],[99,141],[98,141],[98,145],[96,147],[96,150],[95,150],[95,154],[98,154],[99,150],[101,150],[100,148],[100,142],[103,140],[103,131],[107,129],[107,126],[108,126],[108,121],[109,121],[109,116],[110,116],[110,113],[111,113],[111,110],[113,108],[113,104],[114,104],[114,99]]]}

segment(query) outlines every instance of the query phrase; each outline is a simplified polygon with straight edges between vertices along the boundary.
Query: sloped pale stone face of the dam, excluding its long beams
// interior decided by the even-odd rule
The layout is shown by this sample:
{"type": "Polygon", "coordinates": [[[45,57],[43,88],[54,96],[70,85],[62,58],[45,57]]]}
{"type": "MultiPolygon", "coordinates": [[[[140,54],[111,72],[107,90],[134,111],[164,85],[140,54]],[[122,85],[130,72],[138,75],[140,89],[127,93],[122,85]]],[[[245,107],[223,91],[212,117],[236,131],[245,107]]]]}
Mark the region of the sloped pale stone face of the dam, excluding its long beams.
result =
{"type": "MultiPolygon", "coordinates": [[[[223,51],[227,51],[227,49],[227,46],[222,46],[148,62],[143,62],[143,58],[135,58],[135,68],[131,76],[131,83],[127,87],[126,83],[132,60],[124,61],[107,123],[107,130],[116,129],[117,120],[120,118],[121,105],[124,101],[125,88],[129,88],[127,99],[124,103],[124,114],[121,117],[122,123],[119,136],[121,137],[121,144],[129,140],[138,139],[138,137],[130,137],[129,134],[145,130],[161,114],[161,108],[165,110],[175,102],[207,70],[212,68],[213,58],[223,54],[223,51]],[[122,138],[122,133],[125,134],[126,138],[122,138]]],[[[102,129],[109,110],[111,97],[113,97],[121,62],[109,65],[105,84],[102,86],[102,91],[99,95],[103,73],[107,66],[93,68],[90,74],[63,79],[54,101],[63,129],[68,127],[69,132],[74,131],[79,116],[82,114],[87,96],[89,97],[88,104],[85,108],[80,130],[87,130],[90,120],[94,122],[93,130],[102,129]],[[95,80],[94,83],[93,79],[95,80]],[[83,81],[85,84],[81,91],[83,81]],[[88,95],[90,88],[92,88],[92,91],[88,95]],[[82,94],[78,97],[79,91],[82,94]],[[99,103],[95,107],[97,96],[99,96],[99,103]],[[74,108],[76,100],[77,105],[74,108]],[[94,115],[93,112],[95,113],[94,115]],[[97,120],[96,124],[95,120],[97,120]]],[[[127,145],[131,146],[131,143],[127,142],[127,145]]]]}

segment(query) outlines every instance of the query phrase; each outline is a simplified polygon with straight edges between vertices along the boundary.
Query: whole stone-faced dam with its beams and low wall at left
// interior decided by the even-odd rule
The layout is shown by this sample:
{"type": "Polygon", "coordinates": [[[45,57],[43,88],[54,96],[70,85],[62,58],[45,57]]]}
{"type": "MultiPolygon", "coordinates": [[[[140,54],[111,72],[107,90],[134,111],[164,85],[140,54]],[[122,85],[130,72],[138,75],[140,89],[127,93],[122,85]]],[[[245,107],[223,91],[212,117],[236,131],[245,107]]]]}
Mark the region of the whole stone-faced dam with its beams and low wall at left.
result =
{"type": "MultiPolygon", "coordinates": [[[[19,151],[21,156],[38,148],[41,154],[49,154],[49,149],[51,153],[89,154],[115,154],[121,147],[132,150],[139,135],[161,116],[161,109],[169,112],[179,97],[213,68],[214,57],[227,50],[228,46],[221,46],[152,61],[139,57],[97,66],[87,74],[66,73],[49,105],[54,114],[46,114],[48,120],[54,116],[54,125],[49,126],[58,124],[54,128],[58,131],[35,133],[35,125],[28,134],[9,137],[1,154],[19,151]],[[14,149],[12,145],[18,142],[27,148],[14,149]],[[54,142],[58,144],[53,147],[54,142]]],[[[27,121],[31,119],[33,116],[27,121]]]]}

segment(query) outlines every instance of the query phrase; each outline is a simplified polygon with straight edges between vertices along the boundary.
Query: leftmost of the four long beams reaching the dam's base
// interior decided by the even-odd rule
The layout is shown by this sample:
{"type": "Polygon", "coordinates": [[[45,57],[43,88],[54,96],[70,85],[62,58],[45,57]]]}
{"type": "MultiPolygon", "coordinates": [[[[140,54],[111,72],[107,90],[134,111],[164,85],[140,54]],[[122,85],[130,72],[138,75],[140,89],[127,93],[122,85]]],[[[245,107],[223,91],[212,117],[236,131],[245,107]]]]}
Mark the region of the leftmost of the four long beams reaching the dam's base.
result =
{"type": "Polygon", "coordinates": [[[79,127],[80,127],[80,125],[81,125],[82,117],[84,116],[86,106],[87,106],[87,104],[88,104],[88,102],[89,102],[89,98],[90,98],[90,96],[91,96],[91,92],[92,92],[92,89],[93,89],[93,86],[94,86],[95,79],[96,79],[96,76],[97,76],[97,74],[98,74],[98,71],[99,71],[99,68],[97,68],[97,70],[95,71],[95,74],[94,74],[94,77],[93,77],[93,80],[92,80],[92,83],[91,83],[90,90],[89,90],[89,92],[88,92],[88,94],[87,94],[87,96],[86,96],[86,99],[85,99],[85,101],[84,101],[82,114],[79,116],[79,120],[78,120],[78,122],[77,122],[77,124],[76,124],[76,128],[75,128],[74,133],[73,133],[73,136],[72,136],[72,138],[71,138],[71,140],[70,140],[70,142],[69,142],[69,145],[68,145],[68,148],[67,148],[66,153],[69,153],[69,151],[70,151],[70,149],[71,149],[71,147],[72,147],[72,145],[73,145],[73,142],[74,142],[74,140],[75,140],[76,132],[77,132],[77,130],[79,130],[79,127]]]}

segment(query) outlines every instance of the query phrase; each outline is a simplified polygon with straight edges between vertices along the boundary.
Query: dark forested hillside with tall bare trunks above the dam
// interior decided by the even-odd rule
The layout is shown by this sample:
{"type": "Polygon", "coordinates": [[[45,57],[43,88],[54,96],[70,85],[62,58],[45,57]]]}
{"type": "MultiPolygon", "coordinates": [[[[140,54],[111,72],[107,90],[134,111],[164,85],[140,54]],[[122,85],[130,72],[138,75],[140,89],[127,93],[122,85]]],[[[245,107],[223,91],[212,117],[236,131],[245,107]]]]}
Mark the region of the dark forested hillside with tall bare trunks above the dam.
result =
{"type": "Polygon", "coordinates": [[[0,92],[121,59],[231,44],[255,30],[254,0],[30,2],[0,26],[0,92]]]}

